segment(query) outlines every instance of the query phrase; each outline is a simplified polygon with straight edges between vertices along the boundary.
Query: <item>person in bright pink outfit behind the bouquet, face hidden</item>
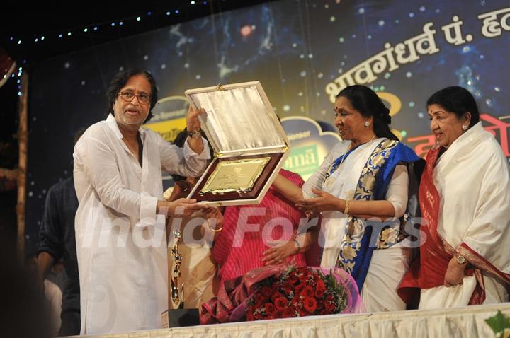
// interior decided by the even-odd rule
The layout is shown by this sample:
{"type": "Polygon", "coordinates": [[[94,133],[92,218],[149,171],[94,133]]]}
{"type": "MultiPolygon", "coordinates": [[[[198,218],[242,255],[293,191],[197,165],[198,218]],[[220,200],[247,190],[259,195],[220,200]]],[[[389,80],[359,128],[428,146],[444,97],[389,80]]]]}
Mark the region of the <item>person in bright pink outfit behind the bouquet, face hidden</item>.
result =
{"type": "MultiPolygon", "coordinates": [[[[280,175],[297,186],[304,182],[288,170],[280,170],[280,175]]],[[[306,265],[304,252],[310,245],[310,233],[296,236],[305,214],[273,186],[260,204],[227,206],[223,214],[223,228],[212,247],[212,257],[220,268],[220,287],[264,265],[306,265]]]]}

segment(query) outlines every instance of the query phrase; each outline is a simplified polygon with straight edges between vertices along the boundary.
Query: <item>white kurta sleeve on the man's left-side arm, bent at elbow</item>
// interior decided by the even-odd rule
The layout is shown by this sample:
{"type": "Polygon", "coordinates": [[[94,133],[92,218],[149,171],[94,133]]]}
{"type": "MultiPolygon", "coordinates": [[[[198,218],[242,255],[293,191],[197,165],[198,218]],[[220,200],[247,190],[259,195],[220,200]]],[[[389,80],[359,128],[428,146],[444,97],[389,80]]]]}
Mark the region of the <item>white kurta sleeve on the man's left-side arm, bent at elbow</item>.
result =
{"type": "MultiPolygon", "coordinates": [[[[109,208],[135,218],[147,214],[147,206],[154,204],[156,197],[145,196],[144,211],[140,208],[140,194],[129,190],[123,184],[115,152],[108,145],[105,131],[101,128],[91,129],[81,137],[75,147],[76,156],[89,184],[98,194],[101,203],[109,208]]],[[[152,217],[156,214],[152,210],[152,217]]]]}

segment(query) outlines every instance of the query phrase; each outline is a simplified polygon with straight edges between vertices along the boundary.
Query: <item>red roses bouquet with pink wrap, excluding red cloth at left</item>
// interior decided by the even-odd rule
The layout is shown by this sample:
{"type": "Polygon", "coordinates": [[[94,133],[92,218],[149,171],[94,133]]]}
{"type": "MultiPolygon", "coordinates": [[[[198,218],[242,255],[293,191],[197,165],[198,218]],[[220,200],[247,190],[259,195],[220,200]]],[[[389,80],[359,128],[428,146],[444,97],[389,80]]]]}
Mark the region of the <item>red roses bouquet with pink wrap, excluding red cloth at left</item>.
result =
{"type": "Polygon", "coordinates": [[[246,320],[354,312],[359,295],[356,288],[351,289],[351,276],[340,269],[325,272],[290,266],[279,276],[260,281],[259,289],[246,301],[246,320]]]}

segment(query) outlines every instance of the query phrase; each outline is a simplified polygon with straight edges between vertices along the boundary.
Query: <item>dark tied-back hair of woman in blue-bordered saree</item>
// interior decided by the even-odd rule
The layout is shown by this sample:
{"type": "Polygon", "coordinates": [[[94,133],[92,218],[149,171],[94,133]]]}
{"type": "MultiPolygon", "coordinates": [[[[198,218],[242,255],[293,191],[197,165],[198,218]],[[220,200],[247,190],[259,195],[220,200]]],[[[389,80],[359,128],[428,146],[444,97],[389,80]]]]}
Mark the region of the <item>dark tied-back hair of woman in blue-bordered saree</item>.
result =
{"type": "Polygon", "coordinates": [[[336,98],[346,98],[363,117],[373,117],[375,136],[399,141],[390,130],[390,110],[382,103],[375,91],[361,85],[347,86],[336,95],[336,98]]]}

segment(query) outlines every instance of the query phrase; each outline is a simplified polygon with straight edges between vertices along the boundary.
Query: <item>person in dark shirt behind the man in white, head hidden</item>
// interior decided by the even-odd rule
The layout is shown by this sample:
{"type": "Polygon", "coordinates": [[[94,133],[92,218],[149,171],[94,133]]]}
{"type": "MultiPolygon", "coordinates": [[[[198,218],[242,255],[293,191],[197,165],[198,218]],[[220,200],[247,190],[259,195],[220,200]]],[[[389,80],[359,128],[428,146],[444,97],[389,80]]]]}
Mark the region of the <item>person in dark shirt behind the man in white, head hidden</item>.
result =
{"type": "Polygon", "coordinates": [[[38,273],[44,281],[53,264],[64,261],[64,289],[62,290],[62,325],[59,335],[71,336],[80,332],[79,276],[74,237],[74,216],[78,199],[73,177],[50,187],[40,227],[38,273]]]}

